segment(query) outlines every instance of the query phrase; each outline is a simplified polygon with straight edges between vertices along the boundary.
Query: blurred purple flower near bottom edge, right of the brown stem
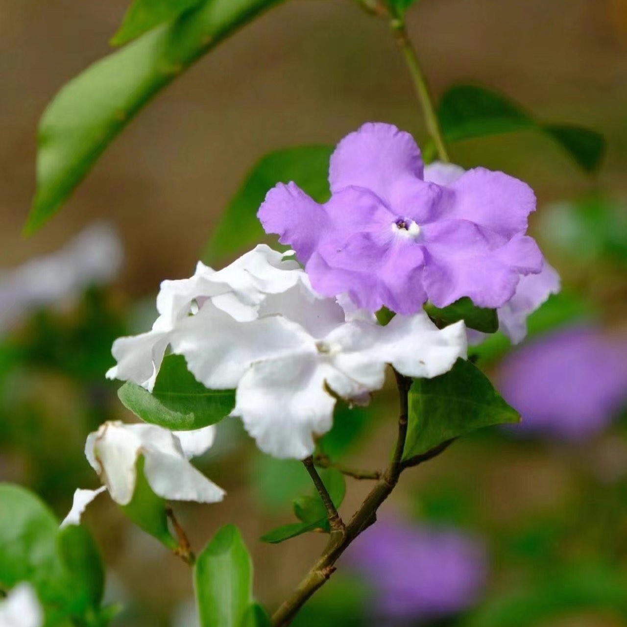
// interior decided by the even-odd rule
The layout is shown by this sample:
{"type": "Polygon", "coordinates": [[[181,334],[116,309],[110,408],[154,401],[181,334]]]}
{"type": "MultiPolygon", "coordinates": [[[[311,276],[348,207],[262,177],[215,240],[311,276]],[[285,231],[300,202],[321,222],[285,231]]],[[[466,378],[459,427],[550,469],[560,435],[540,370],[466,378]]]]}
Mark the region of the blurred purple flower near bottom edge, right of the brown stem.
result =
{"type": "Polygon", "coordinates": [[[394,520],[367,529],[347,560],[371,582],[375,610],[390,621],[455,614],[478,600],[487,576],[487,555],[477,539],[394,520]]]}

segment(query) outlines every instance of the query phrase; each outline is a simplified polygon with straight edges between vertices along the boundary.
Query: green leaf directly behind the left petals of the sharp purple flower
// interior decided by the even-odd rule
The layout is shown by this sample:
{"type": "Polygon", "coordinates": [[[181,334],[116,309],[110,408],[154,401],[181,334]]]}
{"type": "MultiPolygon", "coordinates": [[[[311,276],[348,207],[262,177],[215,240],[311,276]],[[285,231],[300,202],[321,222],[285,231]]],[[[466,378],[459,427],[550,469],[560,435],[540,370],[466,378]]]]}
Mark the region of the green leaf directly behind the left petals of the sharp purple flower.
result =
{"type": "Polygon", "coordinates": [[[293,181],[315,201],[326,201],[332,152],[332,146],[313,145],[275,150],[262,157],[222,214],[203,261],[211,265],[265,238],[257,211],[268,191],[279,182],[293,181]]]}

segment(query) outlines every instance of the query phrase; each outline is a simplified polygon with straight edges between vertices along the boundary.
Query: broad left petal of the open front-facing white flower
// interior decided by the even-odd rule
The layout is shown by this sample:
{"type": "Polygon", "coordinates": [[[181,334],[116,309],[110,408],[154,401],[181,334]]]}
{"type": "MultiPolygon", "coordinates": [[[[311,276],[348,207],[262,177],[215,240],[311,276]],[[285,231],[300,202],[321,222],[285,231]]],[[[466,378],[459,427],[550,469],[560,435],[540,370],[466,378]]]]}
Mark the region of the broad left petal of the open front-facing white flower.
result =
{"type": "Polygon", "coordinates": [[[237,322],[206,303],[172,334],[173,352],[183,355],[189,371],[209,389],[236,387],[253,362],[275,359],[313,345],[297,324],[280,316],[237,322]]]}

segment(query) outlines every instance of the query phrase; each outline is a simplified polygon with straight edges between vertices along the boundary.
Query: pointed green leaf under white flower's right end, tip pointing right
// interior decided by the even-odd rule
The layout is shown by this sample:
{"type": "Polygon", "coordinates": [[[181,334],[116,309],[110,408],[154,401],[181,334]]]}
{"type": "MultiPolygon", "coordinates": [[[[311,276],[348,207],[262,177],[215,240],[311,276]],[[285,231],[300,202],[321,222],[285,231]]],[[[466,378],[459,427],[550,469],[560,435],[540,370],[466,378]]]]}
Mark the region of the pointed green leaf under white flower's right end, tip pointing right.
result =
{"type": "Polygon", "coordinates": [[[520,419],[489,379],[463,359],[439,377],[414,379],[408,418],[405,459],[475,429],[520,419]]]}

